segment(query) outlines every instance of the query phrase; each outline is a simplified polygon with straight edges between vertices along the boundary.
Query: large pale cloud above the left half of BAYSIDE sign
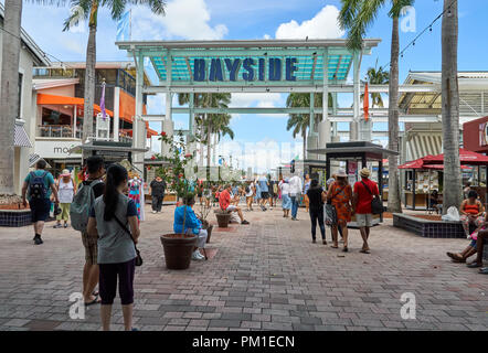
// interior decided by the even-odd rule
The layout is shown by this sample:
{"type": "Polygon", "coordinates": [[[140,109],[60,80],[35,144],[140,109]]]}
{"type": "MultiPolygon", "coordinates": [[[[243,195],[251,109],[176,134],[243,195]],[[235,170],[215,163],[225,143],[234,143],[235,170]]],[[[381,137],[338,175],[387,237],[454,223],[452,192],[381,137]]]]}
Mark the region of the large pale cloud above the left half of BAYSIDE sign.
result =
{"type": "Polygon", "coordinates": [[[212,26],[204,0],[173,0],[166,15],[151,13],[147,7],[132,8],[132,39],[146,40],[220,40],[227,34],[224,24],[212,26]]]}

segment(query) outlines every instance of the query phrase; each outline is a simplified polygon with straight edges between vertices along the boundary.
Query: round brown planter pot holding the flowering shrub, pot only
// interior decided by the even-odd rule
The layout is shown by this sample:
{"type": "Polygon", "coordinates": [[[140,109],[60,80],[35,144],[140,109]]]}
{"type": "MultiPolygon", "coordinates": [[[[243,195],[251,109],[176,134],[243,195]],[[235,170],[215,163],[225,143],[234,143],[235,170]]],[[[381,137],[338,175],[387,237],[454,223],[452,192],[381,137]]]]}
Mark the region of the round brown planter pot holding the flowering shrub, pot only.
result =
{"type": "Polygon", "coordinates": [[[160,236],[160,239],[168,269],[187,269],[190,267],[191,254],[197,245],[195,235],[165,234],[160,236]]]}

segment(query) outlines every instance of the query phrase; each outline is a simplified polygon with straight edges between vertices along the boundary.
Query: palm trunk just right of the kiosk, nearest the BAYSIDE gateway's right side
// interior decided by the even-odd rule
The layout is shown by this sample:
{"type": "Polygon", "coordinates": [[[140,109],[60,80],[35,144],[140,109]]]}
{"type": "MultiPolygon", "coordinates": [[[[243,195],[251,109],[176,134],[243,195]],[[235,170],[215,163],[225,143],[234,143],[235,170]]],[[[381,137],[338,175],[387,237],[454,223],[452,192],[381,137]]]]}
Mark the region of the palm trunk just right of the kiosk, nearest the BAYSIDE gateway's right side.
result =
{"type": "MultiPolygon", "coordinates": [[[[399,55],[400,55],[400,35],[399,35],[399,18],[393,18],[392,25],[392,44],[391,44],[391,66],[390,66],[390,85],[389,96],[390,106],[388,115],[388,138],[389,149],[399,151],[399,55]]],[[[389,212],[402,213],[402,204],[400,199],[400,175],[399,175],[399,157],[389,156],[389,184],[388,184],[388,210],[389,212]]]]}

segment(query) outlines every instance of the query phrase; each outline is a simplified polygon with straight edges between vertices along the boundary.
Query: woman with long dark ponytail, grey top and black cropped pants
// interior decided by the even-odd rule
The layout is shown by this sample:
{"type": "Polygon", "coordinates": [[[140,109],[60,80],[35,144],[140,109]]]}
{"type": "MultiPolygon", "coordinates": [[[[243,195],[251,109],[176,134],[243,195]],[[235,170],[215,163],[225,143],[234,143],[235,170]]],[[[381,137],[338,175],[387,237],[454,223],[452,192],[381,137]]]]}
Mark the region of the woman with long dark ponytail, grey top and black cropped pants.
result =
{"type": "Polygon", "coordinates": [[[108,168],[104,195],[95,201],[87,226],[91,235],[98,235],[97,259],[104,331],[110,329],[117,280],[125,329],[135,330],[132,329],[135,244],[140,231],[136,204],[124,195],[127,191],[127,170],[124,167],[113,164],[108,168]]]}

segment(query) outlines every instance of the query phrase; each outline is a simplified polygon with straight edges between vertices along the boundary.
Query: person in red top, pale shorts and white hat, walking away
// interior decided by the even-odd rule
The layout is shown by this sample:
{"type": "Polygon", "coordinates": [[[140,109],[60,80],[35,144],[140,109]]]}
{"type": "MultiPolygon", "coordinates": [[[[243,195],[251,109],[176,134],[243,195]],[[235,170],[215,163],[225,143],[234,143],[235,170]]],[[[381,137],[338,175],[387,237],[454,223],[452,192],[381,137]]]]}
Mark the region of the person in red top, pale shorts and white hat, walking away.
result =
{"type": "Polygon", "coordinates": [[[361,169],[359,172],[361,181],[354,184],[354,193],[352,195],[352,207],[356,214],[356,222],[362,237],[361,253],[370,254],[370,247],[368,245],[368,238],[370,236],[370,228],[373,223],[373,212],[371,210],[371,201],[374,195],[379,195],[378,184],[370,180],[370,170],[368,168],[361,169]]]}

